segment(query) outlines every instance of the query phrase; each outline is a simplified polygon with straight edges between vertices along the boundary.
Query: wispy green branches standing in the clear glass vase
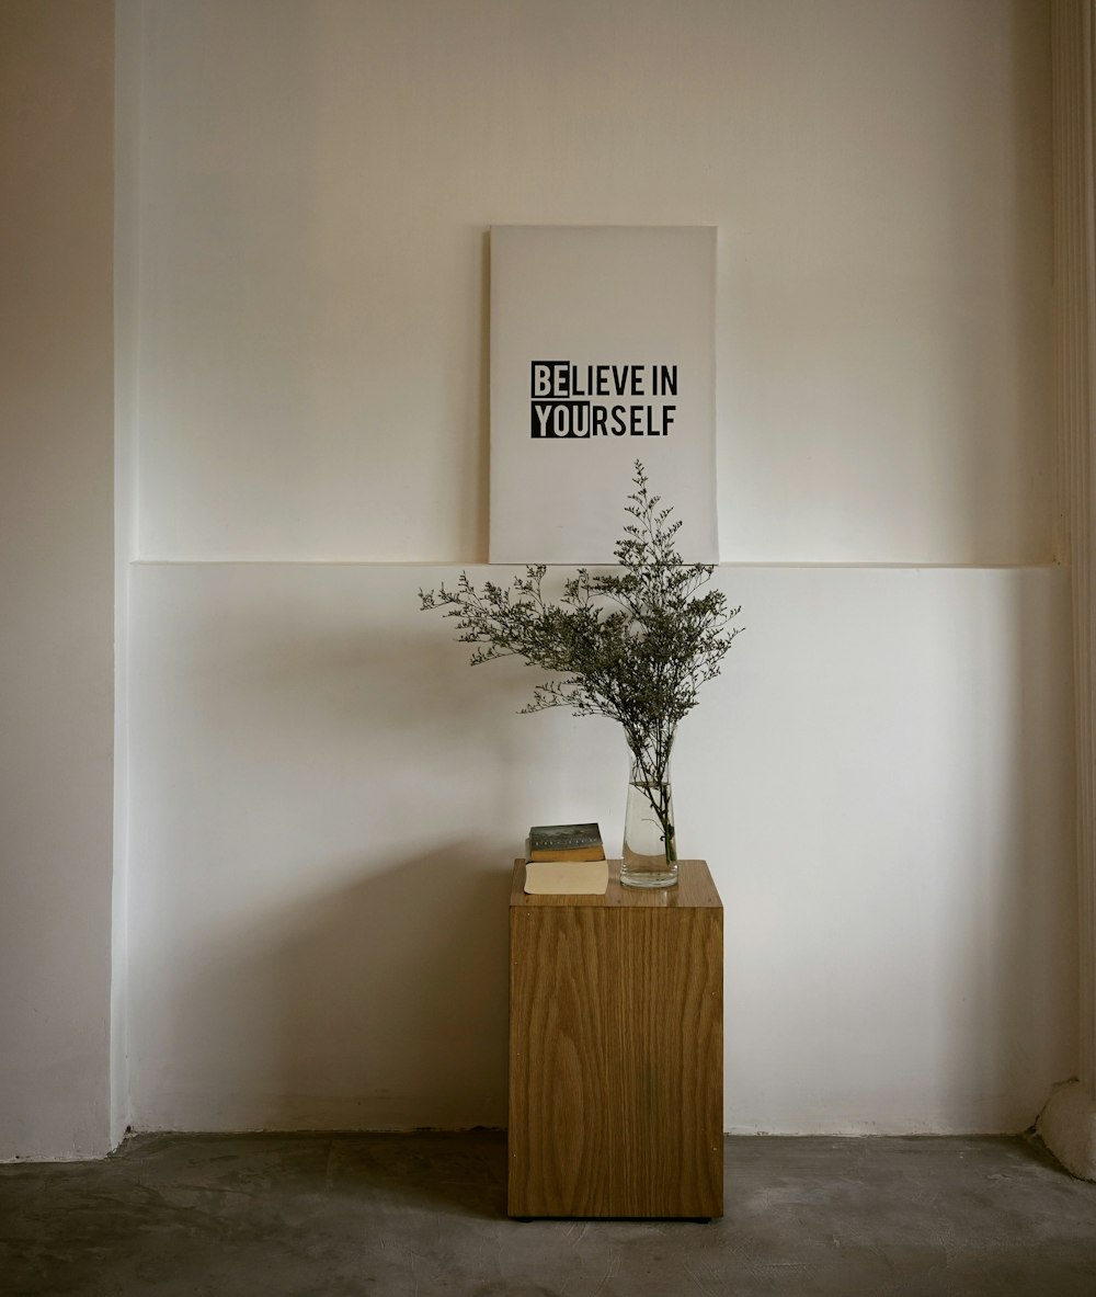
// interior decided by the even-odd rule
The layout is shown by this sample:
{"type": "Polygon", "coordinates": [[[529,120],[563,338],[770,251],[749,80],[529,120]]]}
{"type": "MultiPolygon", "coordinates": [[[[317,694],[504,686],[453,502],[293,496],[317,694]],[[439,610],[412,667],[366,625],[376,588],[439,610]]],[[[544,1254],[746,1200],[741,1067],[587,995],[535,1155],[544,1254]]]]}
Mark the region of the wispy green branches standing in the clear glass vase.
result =
{"type": "Polygon", "coordinates": [[[729,608],[722,591],[698,593],[715,569],[677,553],[681,521],[659,507],[638,459],[633,481],[625,505],[632,520],[614,546],[620,571],[578,568],[556,603],[543,594],[545,564],[527,567],[510,586],[476,588],[462,572],[454,589],[419,590],[419,599],[457,619],[458,639],[477,646],[473,667],[516,656],[559,677],[536,685],[523,712],[569,707],[620,722],[636,782],[658,816],[667,859],[676,860],[665,800],[674,733],[742,628],[730,628],[739,608],[729,608]]]}

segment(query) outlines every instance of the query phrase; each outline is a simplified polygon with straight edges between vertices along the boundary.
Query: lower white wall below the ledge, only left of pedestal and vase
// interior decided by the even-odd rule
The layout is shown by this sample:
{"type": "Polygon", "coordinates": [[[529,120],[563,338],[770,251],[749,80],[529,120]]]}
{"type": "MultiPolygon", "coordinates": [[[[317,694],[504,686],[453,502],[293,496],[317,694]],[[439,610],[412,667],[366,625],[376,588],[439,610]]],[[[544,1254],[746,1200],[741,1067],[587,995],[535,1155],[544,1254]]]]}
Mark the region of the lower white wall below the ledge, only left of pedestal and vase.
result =
{"type": "Polygon", "coordinates": [[[441,575],[154,573],[134,738],[140,1128],[505,1124],[510,864],[537,816],[623,802],[623,754],[608,724],[518,716],[519,663],[470,669],[416,608],[441,575]]]}

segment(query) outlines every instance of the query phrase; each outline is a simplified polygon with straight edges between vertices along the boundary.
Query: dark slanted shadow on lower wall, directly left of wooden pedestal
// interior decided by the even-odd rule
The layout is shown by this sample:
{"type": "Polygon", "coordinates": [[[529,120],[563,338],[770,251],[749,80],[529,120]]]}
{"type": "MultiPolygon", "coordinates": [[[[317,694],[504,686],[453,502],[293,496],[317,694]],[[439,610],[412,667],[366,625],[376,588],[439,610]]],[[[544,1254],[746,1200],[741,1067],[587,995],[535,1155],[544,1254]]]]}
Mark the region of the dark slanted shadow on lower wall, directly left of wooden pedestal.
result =
{"type": "Polygon", "coordinates": [[[230,1126],[237,1105],[268,1130],[506,1124],[510,878],[484,859],[409,859],[204,962],[185,1003],[230,1126]]]}

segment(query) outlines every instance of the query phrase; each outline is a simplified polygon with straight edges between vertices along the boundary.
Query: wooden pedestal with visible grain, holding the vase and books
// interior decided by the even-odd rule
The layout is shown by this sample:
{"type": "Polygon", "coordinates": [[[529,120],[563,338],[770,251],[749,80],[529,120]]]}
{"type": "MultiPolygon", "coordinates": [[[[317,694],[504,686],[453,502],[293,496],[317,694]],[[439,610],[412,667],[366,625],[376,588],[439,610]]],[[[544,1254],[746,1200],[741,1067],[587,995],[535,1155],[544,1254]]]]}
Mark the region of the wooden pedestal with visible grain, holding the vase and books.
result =
{"type": "Polygon", "coordinates": [[[677,887],[510,894],[512,1217],[722,1214],[722,904],[677,887]]]}

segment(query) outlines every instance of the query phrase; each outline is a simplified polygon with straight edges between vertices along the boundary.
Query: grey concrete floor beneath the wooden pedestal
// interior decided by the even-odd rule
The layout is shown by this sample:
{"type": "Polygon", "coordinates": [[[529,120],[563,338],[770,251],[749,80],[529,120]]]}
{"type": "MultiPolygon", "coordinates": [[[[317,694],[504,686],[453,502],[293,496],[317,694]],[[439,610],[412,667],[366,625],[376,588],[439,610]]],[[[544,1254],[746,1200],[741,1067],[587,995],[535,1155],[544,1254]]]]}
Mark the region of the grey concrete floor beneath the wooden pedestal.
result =
{"type": "Polygon", "coordinates": [[[0,1293],[1096,1297],[1096,1184],[1018,1139],[728,1139],[711,1224],[506,1218],[506,1140],[153,1135],[0,1167],[0,1293]]]}

